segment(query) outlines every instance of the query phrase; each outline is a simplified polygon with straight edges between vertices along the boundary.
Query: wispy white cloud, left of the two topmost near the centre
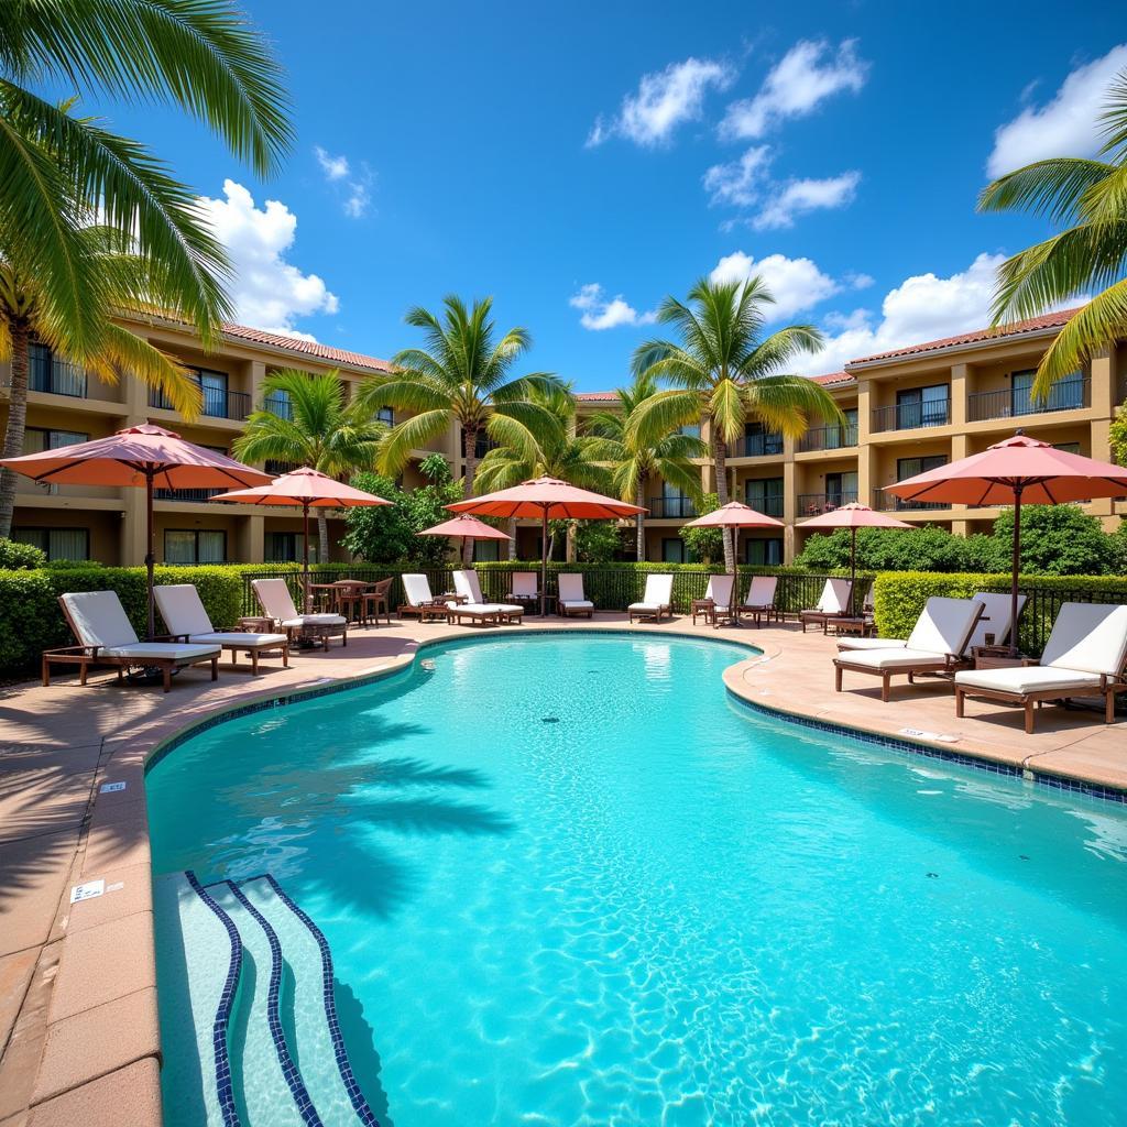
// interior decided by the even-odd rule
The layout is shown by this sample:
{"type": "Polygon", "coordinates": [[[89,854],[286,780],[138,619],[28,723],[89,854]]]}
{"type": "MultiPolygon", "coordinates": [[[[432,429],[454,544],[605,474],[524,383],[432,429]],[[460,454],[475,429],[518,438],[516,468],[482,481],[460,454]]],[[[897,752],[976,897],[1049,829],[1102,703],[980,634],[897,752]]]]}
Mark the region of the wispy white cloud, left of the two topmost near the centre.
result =
{"type": "Polygon", "coordinates": [[[664,71],[644,74],[636,94],[622,99],[622,108],[611,121],[600,116],[587,136],[587,147],[623,136],[635,144],[657,145],[668,141],[682,122],[701,116],[709,88],[726,89],[734,73],[725,63],[709,59],[686,59],[664,71]]]}

